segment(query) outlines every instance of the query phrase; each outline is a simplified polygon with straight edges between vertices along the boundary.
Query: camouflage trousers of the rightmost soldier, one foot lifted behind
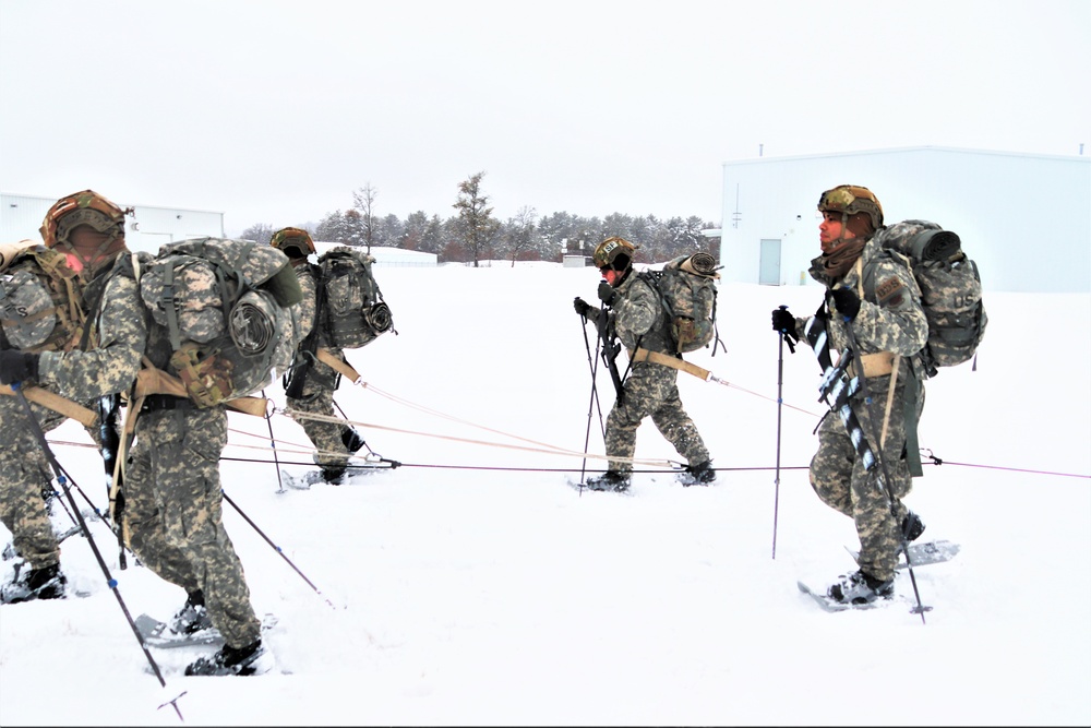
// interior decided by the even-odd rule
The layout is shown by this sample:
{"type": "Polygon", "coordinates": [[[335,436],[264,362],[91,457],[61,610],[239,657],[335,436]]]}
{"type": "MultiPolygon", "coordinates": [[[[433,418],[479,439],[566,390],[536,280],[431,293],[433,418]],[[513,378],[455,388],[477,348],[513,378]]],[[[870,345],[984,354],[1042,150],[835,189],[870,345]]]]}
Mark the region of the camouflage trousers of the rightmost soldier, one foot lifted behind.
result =
{"type": "MultiPolygon", "coordinates": [[[[883,469],[877,463],[871,472],[864,469],[844,425],[836,413],[829,413],[819,425],[818,451],[811,460],[811,486],[818,493],[818,498],[831,509],[850,516],[855,523],[856,536],[860,538],[860,568],[873,577],[884,581],[894,578],[898,551],[901,547],[901,521],[907,513],[906,505],[901,501],[913,486],[907,462],[906,422],[902,416],[906,379],[909,375],[903,362],[903,369],[899,372],[895,387],[887,435],[882,449],[882,460],[886,464],[886,473],[890,476],[890,482],[887,485],[894,494],[892,508],[890,498],[878,479],[883,469]]],[[[890,391],[890,377],[868,378],[867,387],[874,409],[870,409],[864,404],[863,397],[858,395],[852,401],[852,411],[863,427],[867,443],[873,451],[878,452],[887,395],[890,391]],[[872,411],[875,414],[874,420],[872,411]]],[[[920,387],[916,403],[918,418],[923,407],[924,389],[920,387]]]]}

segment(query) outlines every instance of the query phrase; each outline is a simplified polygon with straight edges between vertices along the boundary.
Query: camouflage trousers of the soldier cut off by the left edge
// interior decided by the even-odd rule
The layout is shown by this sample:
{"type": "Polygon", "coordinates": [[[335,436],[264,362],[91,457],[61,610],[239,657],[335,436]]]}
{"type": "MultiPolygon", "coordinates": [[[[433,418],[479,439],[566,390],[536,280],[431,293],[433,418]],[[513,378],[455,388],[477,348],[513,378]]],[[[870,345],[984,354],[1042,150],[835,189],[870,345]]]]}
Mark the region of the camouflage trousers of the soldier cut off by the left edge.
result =
{"type": "MultiPolygon", "coordinates": [[[[84,406],[94,409],[94,403],[84,406]]],[[[63,415],[31,404],[43,432],[61,426],[63,415]]],[[[87,428],[101,449],[97,428],[87,428]]],[[[12,544],[31,566],[41,569],[60,562],[61,549],[49,520],[43,491],[52,490],[53,472],[37,435],[26,421],[17,397],[0,396],[0,522],[11,532],[12,544]]]]}

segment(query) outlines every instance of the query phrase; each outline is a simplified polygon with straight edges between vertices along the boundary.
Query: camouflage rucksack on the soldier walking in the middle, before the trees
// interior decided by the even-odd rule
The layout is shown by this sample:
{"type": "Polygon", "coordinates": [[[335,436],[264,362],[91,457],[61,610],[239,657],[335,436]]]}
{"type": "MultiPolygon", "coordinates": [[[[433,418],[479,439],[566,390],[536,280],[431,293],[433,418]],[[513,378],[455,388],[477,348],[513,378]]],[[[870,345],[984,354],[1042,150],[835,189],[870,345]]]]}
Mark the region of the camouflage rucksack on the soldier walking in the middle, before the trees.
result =
{"type": "Polygon", "coordinates": [[[638,274],[659,291],[679,354],[708,346],[714,337],[719,341],[716,282],[720,274],[716,267],[716,259],[708,253],[693,253],[671,260],[661,271],[638,274]]]}

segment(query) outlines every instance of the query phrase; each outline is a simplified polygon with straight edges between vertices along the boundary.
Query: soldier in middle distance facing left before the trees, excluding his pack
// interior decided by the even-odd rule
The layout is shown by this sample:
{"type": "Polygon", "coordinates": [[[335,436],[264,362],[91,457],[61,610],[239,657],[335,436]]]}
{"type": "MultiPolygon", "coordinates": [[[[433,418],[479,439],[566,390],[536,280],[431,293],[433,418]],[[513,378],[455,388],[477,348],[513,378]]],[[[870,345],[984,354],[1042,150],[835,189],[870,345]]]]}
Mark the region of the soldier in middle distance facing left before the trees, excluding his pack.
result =
{"type": "MultiPolygon", "coordinates": [[[[599,298],[612,311],[589,306],[578,297],[573,301],[574,308],[576,313],[600,326],[612,325],[631,359],[637,347],[676,356],[670,321],[659,293],[633,268],[635,249],[623,238],[608,238],[599,243],[594,255],[603,278],[599,284],[599,298]]],[[[707,485],[716,479],[705,442],[679,398],[678,374],[678,369],[651,361],[633,365],[622,395],[607,417],[609,469],[589,478],[589,488],[628,488],[636,430],[646,417],[651,417],[662,435],[686,458],[684,485],[707,485]]]]}

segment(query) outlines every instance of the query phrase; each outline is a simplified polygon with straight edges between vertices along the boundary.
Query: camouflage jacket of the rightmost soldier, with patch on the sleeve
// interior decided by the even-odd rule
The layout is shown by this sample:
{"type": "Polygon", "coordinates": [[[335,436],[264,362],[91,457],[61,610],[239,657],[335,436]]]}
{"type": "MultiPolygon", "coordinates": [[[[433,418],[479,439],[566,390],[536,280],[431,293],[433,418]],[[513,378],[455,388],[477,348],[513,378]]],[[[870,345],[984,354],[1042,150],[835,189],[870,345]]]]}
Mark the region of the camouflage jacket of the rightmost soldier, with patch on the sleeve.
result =
{"type": "MultiPolygon", "coordinates": [[[[811,277],[832,290],[843,283],[860,295],[861,275],[866,276],[874,268],[875,290],[864,290],[860,301],[860,312],[852,321],[852,330],[856,335],[861,351],[858,354],[875,354],[891,351],[910,358],[914,367],[921,357],[921,350],[928,341],[928,321],[921,306],[921,289],[913,277],[909,261],[897,253],[882,248],[872,237],[860,253],[859,266],[853,266],[844,274],[843,281],[831,281],[822,268],[822,256],[811,262],[811,277]]],[[[849,345],[849,334],[841,315],[829,295],[825,307],[830,313],[827,320],[830,348],[840,351],[849,345]]],[[[806,341],[806,319],[796,319],[796,333],[806,341]]],[[[920,373],[920,372],[919,372],[920,373]]]]}

